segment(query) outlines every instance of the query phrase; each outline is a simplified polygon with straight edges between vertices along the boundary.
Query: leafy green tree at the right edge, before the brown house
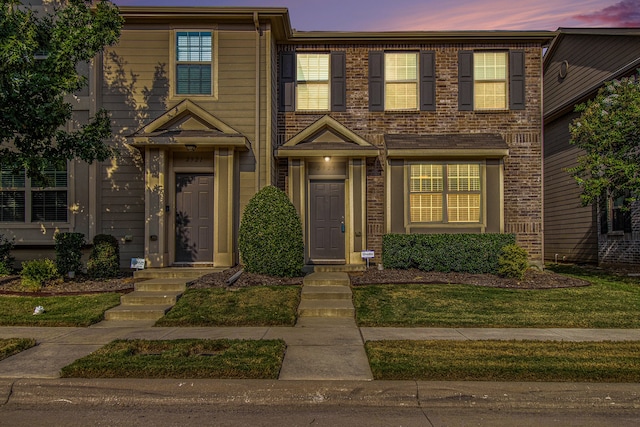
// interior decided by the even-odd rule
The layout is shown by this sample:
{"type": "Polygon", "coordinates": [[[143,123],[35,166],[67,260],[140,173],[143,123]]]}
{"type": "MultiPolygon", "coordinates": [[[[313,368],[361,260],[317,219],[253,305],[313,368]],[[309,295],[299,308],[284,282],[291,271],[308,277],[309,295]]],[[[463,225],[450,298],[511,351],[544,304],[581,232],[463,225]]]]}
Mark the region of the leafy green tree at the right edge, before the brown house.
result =
{"type": "Polygon", "coordinates": [[[583,205],[599,197],[624,197],[624,209],[640,194],[640,81],[613,80],[576,107],[571,144],[584,150],[569,173],[582,187],[583,205]]]}

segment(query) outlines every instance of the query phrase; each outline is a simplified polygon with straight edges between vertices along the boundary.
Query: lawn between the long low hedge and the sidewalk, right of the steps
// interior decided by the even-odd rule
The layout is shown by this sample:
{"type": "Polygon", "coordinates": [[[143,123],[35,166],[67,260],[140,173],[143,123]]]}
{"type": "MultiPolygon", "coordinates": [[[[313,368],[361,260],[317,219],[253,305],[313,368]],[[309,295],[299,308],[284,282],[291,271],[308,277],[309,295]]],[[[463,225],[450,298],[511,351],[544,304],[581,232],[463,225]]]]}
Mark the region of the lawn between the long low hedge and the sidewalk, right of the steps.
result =
{"type": "Polygon", "coordinates": [[[360,326],[640,328],[637,278],[554,267],[592,283],[520,290],[472,285],[373,285],[353,289],[360,326]]]}

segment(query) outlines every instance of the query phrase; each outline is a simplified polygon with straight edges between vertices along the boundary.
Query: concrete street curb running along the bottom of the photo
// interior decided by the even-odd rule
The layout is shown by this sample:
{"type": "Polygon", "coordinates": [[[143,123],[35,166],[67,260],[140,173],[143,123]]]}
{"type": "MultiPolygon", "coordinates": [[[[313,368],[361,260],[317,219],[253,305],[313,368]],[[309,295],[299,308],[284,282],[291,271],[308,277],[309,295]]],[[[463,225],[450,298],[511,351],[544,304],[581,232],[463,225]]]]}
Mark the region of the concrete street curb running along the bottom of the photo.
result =
{"type": "Polygon", "coordinates": [[[4,405],[640,409],[640,384],[204,379],[0,380],[4,405]]]}

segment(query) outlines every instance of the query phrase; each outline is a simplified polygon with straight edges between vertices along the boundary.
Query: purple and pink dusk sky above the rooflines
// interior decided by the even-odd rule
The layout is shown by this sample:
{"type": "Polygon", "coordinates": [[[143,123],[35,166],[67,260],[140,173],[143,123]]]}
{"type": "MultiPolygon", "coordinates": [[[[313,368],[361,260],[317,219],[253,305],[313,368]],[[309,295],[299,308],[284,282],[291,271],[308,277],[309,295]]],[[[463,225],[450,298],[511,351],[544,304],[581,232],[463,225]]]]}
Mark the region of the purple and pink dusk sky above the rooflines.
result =
{"type": "Polygon", "coordinates": [[[299,31],[640,27],[640,0],[112,0],[124,6],[286,7],[299,31]]]}

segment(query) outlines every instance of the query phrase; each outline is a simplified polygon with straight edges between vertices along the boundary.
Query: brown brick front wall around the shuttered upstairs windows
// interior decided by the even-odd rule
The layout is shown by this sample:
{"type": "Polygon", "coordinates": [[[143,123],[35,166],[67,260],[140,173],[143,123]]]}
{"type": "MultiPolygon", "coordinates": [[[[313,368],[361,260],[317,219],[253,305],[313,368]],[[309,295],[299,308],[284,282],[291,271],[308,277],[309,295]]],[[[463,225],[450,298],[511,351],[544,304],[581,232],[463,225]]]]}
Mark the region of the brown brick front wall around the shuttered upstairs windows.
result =
{"type": "MultiPolygon", "coordinates": [[[[385,134],[499,133],[509,145],[505,159],[505,232],[515,233],[532,261],[542,261],[542,70],[539,46],[527,44],[410,44],[281,46],[298,51],[345,51],[347,111],[329,113],[371,144],[384,148],[385,134]],[[505,112],[458,111],[458,51],[476,48],[523,49],[526,52],[526,109],[505,112]],[[368,54],[370,50],[434,50],[437,108],[429,112],[370,112],[368,54]]],[[[283,143],[325,113],[279,113],[279,141],[283,143]]],[[[383,150],[384,152],[384,150],[383,150]]],[[[367,219],[369,249],[381,253],[384,233],[385,159],[367,162],[367,219]]],[[[282,182],[282,181],[280,181],[282,182]]]]}

